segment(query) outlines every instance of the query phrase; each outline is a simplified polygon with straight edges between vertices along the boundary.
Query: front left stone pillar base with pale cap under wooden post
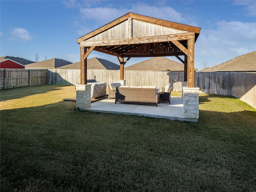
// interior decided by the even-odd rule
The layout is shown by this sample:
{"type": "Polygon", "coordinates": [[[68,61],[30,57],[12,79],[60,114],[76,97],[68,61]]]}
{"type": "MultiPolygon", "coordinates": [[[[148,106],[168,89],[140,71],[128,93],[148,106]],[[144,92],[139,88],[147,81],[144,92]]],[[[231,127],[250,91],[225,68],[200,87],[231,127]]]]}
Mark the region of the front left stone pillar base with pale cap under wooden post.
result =
{"type": "Polygon", "coordinates": [[[87,85],[76,85],[76,109],[84,110],[91,106],[91,86],[87,85]]]}

